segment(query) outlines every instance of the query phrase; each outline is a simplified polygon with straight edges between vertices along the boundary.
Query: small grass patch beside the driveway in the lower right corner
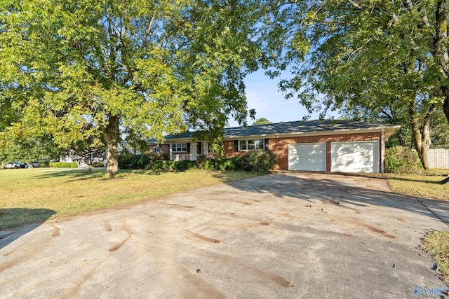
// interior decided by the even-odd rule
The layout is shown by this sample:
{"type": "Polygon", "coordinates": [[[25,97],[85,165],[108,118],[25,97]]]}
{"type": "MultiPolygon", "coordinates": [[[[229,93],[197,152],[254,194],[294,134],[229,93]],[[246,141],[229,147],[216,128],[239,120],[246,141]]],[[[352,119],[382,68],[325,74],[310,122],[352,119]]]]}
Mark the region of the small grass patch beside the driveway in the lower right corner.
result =
{"type": "Polygon", "coordinates": [[[449,230],[429,232],[422,240],[422,249],[434,257],[441,278],[449,285],[449,230]]]}

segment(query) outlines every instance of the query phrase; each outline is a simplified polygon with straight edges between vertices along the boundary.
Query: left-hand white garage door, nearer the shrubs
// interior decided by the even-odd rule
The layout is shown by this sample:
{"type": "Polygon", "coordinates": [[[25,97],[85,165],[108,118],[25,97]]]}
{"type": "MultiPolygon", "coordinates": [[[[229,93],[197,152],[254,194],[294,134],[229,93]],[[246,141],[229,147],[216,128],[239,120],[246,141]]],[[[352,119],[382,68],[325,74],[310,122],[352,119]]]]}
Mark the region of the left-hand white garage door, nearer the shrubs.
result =
{"type": "Polygon", "coordinates": [[[326,144],[288,144],[288,170],[326,172],[326,144]]]}

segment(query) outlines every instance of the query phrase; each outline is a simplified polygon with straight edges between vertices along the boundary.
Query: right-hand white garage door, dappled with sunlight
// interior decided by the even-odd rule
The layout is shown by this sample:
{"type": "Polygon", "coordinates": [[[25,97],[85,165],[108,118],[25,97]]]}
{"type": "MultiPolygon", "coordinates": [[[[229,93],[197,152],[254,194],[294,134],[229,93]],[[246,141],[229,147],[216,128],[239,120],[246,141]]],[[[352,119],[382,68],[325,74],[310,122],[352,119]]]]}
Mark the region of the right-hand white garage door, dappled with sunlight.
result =
{"type": "Polygon", "coordinates": [[[331,172],[379,172],[379,141],[333,142],[331,172]]]}

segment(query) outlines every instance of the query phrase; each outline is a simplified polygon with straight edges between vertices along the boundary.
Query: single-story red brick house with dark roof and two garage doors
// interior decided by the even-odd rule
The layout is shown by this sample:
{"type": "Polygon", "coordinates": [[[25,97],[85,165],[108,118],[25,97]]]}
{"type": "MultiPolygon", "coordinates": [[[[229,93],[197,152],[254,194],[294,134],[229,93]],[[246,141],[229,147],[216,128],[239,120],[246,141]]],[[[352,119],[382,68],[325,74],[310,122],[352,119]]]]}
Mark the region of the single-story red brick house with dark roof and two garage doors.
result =
{"type": "MultiPolygon", "coordinates": [[[[307,120],[225,128],[224,155],[270,150],[278,155],[275,169],[318,172],[383,172],[385,141],[401,126],[347,120],[307,120]]],[[[208,155],[208,142],[192,132],[170,135],[166,144],[149,141],[154,152],[170,160],[196,160],[208,155]]]]}

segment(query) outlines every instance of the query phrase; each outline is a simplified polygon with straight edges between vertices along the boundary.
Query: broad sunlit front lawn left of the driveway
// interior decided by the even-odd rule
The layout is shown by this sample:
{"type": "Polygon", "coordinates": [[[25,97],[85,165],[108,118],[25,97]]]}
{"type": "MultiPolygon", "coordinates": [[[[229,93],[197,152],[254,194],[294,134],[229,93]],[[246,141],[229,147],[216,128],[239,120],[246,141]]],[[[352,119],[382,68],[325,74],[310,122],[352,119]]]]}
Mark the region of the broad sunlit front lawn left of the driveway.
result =
{"type": "Polygon", "coordinates": [[[246,179],[248,172],[0,169],[0,230],[246,179]]]}

